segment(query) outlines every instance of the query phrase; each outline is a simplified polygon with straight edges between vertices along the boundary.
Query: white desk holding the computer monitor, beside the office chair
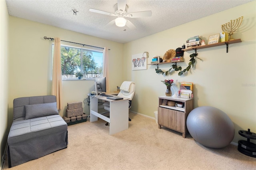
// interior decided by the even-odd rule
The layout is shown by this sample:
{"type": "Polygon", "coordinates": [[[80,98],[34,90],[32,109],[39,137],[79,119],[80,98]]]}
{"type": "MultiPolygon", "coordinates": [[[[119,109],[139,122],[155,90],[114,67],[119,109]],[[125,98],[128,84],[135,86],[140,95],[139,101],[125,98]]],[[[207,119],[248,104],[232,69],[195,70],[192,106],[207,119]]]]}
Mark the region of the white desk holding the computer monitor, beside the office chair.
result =
{"type": "Polygon", "coordinates": [[[98,121],[98,117],[107,121],[109,125],[109,134],[115,134],[128,129],[129,119],[129,98],[123,100],[110,100],[106,97],[94,97],[90,95],[90,122],[98,121]],[[109,117],[98,113],[98,100],[109,101],[109,117]]]}

